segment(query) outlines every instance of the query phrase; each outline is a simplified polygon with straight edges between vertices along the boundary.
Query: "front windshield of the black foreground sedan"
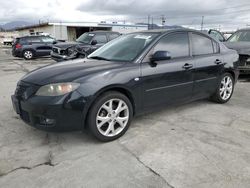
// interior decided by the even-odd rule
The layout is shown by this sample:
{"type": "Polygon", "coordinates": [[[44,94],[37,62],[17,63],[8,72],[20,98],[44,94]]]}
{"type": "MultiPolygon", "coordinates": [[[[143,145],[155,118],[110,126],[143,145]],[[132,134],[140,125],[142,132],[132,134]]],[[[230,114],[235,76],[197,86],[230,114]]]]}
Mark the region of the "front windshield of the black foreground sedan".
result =
{"type": "Polygon", "coordinates": [[[133,33],[107,43],[88,56],[107,61],[133,61],[159,34],[133,33]]]}

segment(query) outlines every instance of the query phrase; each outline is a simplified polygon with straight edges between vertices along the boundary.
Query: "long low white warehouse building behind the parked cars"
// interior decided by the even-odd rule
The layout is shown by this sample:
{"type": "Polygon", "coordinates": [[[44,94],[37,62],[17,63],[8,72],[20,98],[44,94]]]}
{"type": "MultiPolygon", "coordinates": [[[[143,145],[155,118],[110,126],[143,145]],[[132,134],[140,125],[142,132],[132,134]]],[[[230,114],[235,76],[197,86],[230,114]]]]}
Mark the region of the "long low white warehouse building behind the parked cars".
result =
{"type": "Polygon", "coordinates": [[[16,30],[20,36],[49,34],[56,39],[74,41],[81,34],[89,31],[107,30],[117,31],[124,34],[147,29],[147,25],[121,24],[116,22],[48,22],[20,27],[16,30]]]}

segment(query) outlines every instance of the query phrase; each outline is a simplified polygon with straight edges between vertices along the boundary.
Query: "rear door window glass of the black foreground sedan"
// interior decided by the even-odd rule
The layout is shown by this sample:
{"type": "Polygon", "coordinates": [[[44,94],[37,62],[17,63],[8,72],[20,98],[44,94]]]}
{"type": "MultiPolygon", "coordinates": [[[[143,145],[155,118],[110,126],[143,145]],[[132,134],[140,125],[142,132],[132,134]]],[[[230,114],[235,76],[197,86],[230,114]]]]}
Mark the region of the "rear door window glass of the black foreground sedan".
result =
{"type": "Polygon", "coordinates": [[[192,44],[193,55],[212,54],[214,51],[211,39],[198,34],[192,34],[192,44]]]}

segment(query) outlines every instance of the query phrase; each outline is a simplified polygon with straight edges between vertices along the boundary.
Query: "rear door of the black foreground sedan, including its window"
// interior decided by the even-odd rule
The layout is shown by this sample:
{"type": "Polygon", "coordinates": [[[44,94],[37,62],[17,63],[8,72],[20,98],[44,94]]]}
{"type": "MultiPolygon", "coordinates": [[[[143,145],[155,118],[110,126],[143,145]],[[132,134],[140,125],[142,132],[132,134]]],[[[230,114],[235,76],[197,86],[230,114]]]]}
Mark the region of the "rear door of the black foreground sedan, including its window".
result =
{"type": "Polygon", "coordinates": [[[193,97],[208,97],[216,91],[218,79],[224,71],[223,56],[215,40],[200,33],[190,35],[195,62],[193,97]]]}

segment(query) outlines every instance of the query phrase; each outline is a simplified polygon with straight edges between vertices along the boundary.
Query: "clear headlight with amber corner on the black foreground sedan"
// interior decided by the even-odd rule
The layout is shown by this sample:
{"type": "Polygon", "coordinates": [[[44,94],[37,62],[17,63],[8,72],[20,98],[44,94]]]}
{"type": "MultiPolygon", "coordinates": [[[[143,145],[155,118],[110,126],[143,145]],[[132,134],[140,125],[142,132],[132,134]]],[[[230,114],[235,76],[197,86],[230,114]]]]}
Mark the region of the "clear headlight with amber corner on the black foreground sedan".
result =
{"type": "Polygon", "coordinates": [[[79,83],[57,83],[49,84],[39,88],[36,92],[38,96],[60,96],[76,90],[80,86],[79,83]]]}

